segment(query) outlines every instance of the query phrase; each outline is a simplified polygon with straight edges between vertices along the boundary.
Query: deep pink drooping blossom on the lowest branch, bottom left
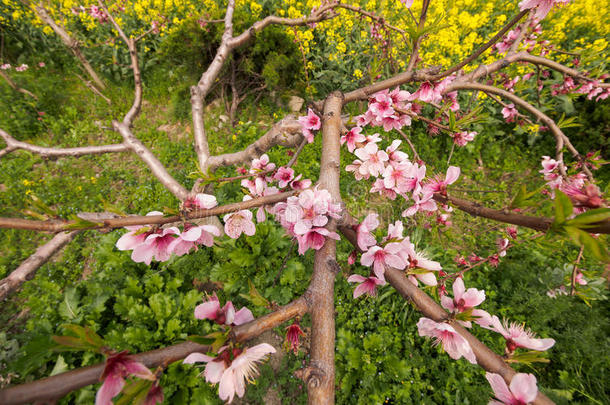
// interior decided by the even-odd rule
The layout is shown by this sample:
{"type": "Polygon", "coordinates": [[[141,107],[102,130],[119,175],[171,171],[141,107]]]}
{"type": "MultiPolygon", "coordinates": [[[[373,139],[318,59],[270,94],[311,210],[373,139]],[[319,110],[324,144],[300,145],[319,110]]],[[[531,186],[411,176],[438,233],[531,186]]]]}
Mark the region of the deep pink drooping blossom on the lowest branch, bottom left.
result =
{"type": "Polygon", "coordinates": [[[130,375],[145,380],[155,380],[155,375],[144,364],[127,355],[127,351],[108,356],[100,377],[104,383],[97,391],[95,405],[112,405],[112,398],[121,392],[125,378],[130,375]]]}

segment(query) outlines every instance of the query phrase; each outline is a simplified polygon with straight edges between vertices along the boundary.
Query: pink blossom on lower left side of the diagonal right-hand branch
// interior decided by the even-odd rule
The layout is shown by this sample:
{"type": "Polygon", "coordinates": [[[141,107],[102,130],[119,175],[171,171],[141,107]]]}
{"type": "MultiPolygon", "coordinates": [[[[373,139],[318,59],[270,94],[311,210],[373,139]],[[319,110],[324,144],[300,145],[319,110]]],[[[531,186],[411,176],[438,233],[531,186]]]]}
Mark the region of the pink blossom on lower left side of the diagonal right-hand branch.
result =
{"type": "Polygon", "coordinates": [[[468,341],[447,323],[434,322],[432,319],[420,318],[417,322],[419,336],[435,339],[434,344],[442,344],[443,349],[454,360],[464,357],[472,364],[477,364],[476,356],[468,341]]]}

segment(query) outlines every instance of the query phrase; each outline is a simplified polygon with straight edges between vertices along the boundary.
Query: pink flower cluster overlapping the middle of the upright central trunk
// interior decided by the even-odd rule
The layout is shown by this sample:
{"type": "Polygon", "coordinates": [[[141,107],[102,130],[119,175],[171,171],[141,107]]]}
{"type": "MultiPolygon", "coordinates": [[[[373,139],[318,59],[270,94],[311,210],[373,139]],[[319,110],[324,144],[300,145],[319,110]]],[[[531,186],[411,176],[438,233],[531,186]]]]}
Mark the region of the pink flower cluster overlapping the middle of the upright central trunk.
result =
{"type": "Polygon", "coordinates": [[[330,218],[341,218],[341,205],[333,203],[327,190],[315,187],[277,203],[273,212],[289,235],[296,237],[299,254],[319,250],[326,238],[339,240],[336,232],[324,228],[330,218]]]}

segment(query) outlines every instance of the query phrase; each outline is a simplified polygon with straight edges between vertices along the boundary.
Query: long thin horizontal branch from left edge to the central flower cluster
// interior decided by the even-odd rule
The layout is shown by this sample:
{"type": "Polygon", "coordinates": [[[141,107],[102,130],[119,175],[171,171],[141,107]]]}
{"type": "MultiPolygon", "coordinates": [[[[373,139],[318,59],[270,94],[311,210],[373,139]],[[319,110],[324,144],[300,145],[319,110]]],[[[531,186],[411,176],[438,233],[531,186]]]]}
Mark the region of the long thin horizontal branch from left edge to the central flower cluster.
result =
{"type": "Polygon", "coordinates": [[[295,194],[297,194],[296,191],[289,191],[286,193],[254,198],[248,201],[221,205],[219,207],[214,207],[209,210],[196,210],[186,213],[184,215],[172,215],[167,217],[163,215],[133,215],[119,218],[108,218],[107,215],[99,215],[98,217],[93,217],[91,216],[91,214],[89,214],[86,220],[93,222],[93,224],[89,226],[79,224],[78,222],[72,220],[35,221],[21,218],[0,218],[0,228],[28,229],[32,231],[43,232],[60,232],[74,230],[75,227],[78,227],[78,229],[114,229],[133,225],[164,225],[172,222],[183,222],[191,219],[207,218],[216,215],[228,214],[231,212],[247,210],[250,208],[256,208],[267,204],[275,204],[277,202],[284,201],[288,197],[293,196],[295,194]]]}

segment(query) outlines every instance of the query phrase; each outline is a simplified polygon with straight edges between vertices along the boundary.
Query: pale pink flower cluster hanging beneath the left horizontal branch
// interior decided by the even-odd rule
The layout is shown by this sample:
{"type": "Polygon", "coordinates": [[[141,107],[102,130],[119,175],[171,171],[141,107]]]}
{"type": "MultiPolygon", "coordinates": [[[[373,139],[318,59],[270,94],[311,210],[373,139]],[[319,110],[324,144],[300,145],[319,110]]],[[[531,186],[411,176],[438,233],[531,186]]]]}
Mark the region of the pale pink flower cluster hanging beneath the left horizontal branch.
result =
{"type": "MultiPolygon", "coordinates": [[[[207,194],[197,194],[191,204],[209,209],[216,206],[216,198],[207,194]]],[[[163,213],[152,211],[146,215],[156,216],[163,213]]],[[[200,245],[210,247],[214,244],[214,237],[220,236],[220,230],[213,225],[193,223],[185,223],[182,231],[176,226],[167,228],[126,226],[125,228],[129,232],[116,242],[117,249],[132,250],[131,258],[134,262],[148,265],[153,259],[164,262],[169,260],[172,254],[185,255],[192,249],[197,250],[200,245]]]]}

